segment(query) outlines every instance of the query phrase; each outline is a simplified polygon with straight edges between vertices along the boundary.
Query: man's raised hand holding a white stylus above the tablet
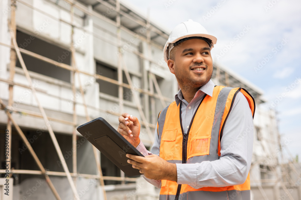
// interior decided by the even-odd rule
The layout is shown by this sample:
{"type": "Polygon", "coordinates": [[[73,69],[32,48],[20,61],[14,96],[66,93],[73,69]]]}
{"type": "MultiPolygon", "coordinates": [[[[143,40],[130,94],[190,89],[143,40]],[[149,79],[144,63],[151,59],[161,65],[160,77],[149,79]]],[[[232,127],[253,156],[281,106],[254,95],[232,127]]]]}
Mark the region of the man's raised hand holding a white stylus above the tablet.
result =
{"type": "Polygon", "coordinates": [[[118,133],[120,133],[129,143],[131,143],[135,148],[140,143],[140,123],[136,117],[129,115],[128,113],[123,113],[122,116],[118,118],[118,133]]]}

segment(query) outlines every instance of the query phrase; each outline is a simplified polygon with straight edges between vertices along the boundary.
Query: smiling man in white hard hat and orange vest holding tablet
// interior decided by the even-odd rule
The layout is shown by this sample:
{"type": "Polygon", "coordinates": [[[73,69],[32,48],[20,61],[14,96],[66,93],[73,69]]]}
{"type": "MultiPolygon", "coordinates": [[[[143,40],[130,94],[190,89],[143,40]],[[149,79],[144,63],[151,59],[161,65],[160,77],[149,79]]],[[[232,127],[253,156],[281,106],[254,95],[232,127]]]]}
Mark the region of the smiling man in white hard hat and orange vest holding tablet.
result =
{"type": "Polygon", "coordinates": [[[128,162],[160,190],[160,199],[250,199],[253,97],[215,86],[211,49],[216,37],[191,19],[169,35],[163,55],[180,86],[158,117],[151,152],[136,117],[119,117],[121,133],[145,157],[128,162]]]}

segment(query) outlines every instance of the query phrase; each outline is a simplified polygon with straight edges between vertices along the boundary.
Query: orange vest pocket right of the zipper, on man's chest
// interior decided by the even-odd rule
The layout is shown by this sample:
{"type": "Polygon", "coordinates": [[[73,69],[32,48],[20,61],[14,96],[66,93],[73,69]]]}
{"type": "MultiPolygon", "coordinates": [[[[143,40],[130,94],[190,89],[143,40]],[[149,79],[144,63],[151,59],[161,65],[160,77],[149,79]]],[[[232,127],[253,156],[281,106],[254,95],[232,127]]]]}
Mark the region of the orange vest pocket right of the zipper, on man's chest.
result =
{"type": "MultiPolygon", "coordinates": [[[[190,151],[189,156],[202,156],[209,154],[209,146],[210,146],[211,136],[202,136],[202,137],[194,137],[190,140],[190,151]]],[[[187,158],[187,159],[188,159],[187,158]]]]}

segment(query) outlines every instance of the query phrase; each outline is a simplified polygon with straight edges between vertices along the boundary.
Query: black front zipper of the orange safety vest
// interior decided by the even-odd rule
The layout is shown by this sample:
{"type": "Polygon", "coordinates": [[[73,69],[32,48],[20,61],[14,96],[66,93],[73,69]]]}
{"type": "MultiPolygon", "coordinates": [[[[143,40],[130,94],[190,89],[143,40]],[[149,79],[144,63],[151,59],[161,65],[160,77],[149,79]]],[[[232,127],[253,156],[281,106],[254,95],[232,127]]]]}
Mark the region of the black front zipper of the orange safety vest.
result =
{"type": "MultiPolygon", "coordinates": [[[[182,101],[180,102],[180,124],[181,124],[182,135],[183,135],[182,164],[187,163],[187,161],[186,161],[187,160],[187,143],[186,143],[186,140],[188,139],[188,134],[189,134],[189,131],[190,131],[190,128],[191,128],[194,116],[197,113],[197,110],[199,109],[199,107],[200,107],[201,103],[203,102],[203,100],[205,99],[205,97],[206,97],[206,95],[203,97],[203,99],[201,100],[200,104],[197,106],[197,109],[194,112],[194,115],[193,115],[193,117],[192,117],[192,119],[190,121],[190,125],[189,125],[189,128],[188,128],[186,134],[184,133],[183,125],[182,125],[182,101]]],[[[182,186],[181,184],[178,185],[177,193],[175,195],[175,200],[179,199],[180,192],[181,192],[181,186],[182,186]]]]}

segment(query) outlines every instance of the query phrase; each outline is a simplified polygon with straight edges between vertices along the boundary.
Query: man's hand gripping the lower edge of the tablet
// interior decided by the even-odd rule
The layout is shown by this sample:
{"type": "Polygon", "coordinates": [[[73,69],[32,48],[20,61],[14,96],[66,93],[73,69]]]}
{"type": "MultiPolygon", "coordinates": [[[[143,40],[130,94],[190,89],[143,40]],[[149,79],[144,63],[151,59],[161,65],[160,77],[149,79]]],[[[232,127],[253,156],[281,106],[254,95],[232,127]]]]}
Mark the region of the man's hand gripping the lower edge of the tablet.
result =
{"type": "Polygon", "coordinates": [[[126,157],[129,158],[128,163],[132,164],[133,168],[139,169],[146,178],[177,182],[177,166],[174,163],[169,163],[154,154],[146,157],[126,154],[126,157]]]}

